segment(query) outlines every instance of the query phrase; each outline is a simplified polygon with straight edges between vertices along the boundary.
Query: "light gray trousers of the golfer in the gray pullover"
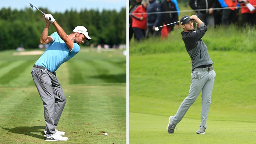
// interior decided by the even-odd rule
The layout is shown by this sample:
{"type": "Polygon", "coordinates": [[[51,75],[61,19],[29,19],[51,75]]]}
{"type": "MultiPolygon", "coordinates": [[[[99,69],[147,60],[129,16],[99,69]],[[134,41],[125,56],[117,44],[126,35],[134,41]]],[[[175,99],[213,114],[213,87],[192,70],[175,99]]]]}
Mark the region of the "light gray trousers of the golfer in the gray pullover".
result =
{"type": "Polygon", "coordinates": [[[206,121],[211,105],[212,88],[216,73],[211,71],[192,71],[191,84],[189,94],[180,104],[177,113],[172,119],[173,124],[178,124],[184,117],[188,108],[196,101],[197,96],[202,91],[202,106],[201,106],[201,124],[199,126],[206,126],[206,121]]]}

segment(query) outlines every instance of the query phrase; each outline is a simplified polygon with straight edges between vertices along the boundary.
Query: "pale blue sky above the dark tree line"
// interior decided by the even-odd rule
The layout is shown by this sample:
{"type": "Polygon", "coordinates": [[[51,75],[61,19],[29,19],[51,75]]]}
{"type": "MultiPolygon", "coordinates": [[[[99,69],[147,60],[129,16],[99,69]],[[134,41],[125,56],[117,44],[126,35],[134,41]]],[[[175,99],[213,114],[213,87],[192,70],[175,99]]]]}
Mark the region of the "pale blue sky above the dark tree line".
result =
{"type": "MultiPolygon", "coordinates": [[[[29,3],[36,8],[47,8],[51,12],[65,12],[66,10],[116,10],[126,7],[126,0],[1,0],[0,9],[10,7],[12,10],[30,8],[29,3]]],[[[34,8],[35,9],[35,8],[34,8]]],[[[35,9],[36,10],[36,9],[35,9]]]]}

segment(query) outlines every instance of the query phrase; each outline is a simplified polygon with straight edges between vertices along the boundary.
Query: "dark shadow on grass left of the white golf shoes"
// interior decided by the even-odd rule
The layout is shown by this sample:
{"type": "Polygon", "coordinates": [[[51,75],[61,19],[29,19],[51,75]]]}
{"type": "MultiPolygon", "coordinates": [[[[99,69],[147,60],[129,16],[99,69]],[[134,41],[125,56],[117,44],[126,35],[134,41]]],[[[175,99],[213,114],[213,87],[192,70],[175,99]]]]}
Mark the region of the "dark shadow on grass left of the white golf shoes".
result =
{"type": "Polygon", "coordinates": [[[4,127],[1,126],[1,128],[8,131],[8,132],[29,135],[31,137],[35,137],[35,138],[38,138],[38,139],[45,139],[45,137],[43,136],[43,130],[42,130],[42,129],[45,128],[45,126],[19,126],[19,127],[15,127],[15,128],[12,128],[12,129],[4,128],[4,127]],[[41,135],[34,134],[34,133],[31,133],[31,132],[40,132],[41,135]]]}

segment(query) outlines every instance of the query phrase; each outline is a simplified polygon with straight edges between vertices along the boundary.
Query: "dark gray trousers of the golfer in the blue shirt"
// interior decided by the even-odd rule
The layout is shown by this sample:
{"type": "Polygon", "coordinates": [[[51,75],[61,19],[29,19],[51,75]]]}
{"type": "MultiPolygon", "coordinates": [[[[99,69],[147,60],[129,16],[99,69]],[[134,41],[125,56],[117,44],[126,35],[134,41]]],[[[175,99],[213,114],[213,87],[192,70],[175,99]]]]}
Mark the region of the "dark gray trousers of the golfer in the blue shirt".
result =
{"type": "Polygon", "coordinates": [[[49,137],[56,132],[55,128],[59,123],[67,100],[56,73],[33,67],[31,74],[38,93],[43,100],[45,131],[47,131],[46,137],[49,137]]]}

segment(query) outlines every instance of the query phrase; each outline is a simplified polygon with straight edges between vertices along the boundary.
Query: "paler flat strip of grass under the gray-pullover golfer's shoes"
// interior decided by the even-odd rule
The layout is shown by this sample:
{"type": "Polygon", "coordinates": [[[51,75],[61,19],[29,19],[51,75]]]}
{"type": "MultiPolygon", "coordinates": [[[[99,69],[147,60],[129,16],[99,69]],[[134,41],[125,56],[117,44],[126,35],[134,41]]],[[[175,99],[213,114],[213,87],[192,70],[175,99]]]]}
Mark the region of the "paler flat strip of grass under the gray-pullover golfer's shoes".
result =
{"type": "Polygon", "coordinates": [[[168,134],[169,116],[130,113],[131,144],[161,143],[255,143],[255,123],[208,120],[206,134],[196,134],[200,118],[183,118],[173,134],[168,134]]]}

